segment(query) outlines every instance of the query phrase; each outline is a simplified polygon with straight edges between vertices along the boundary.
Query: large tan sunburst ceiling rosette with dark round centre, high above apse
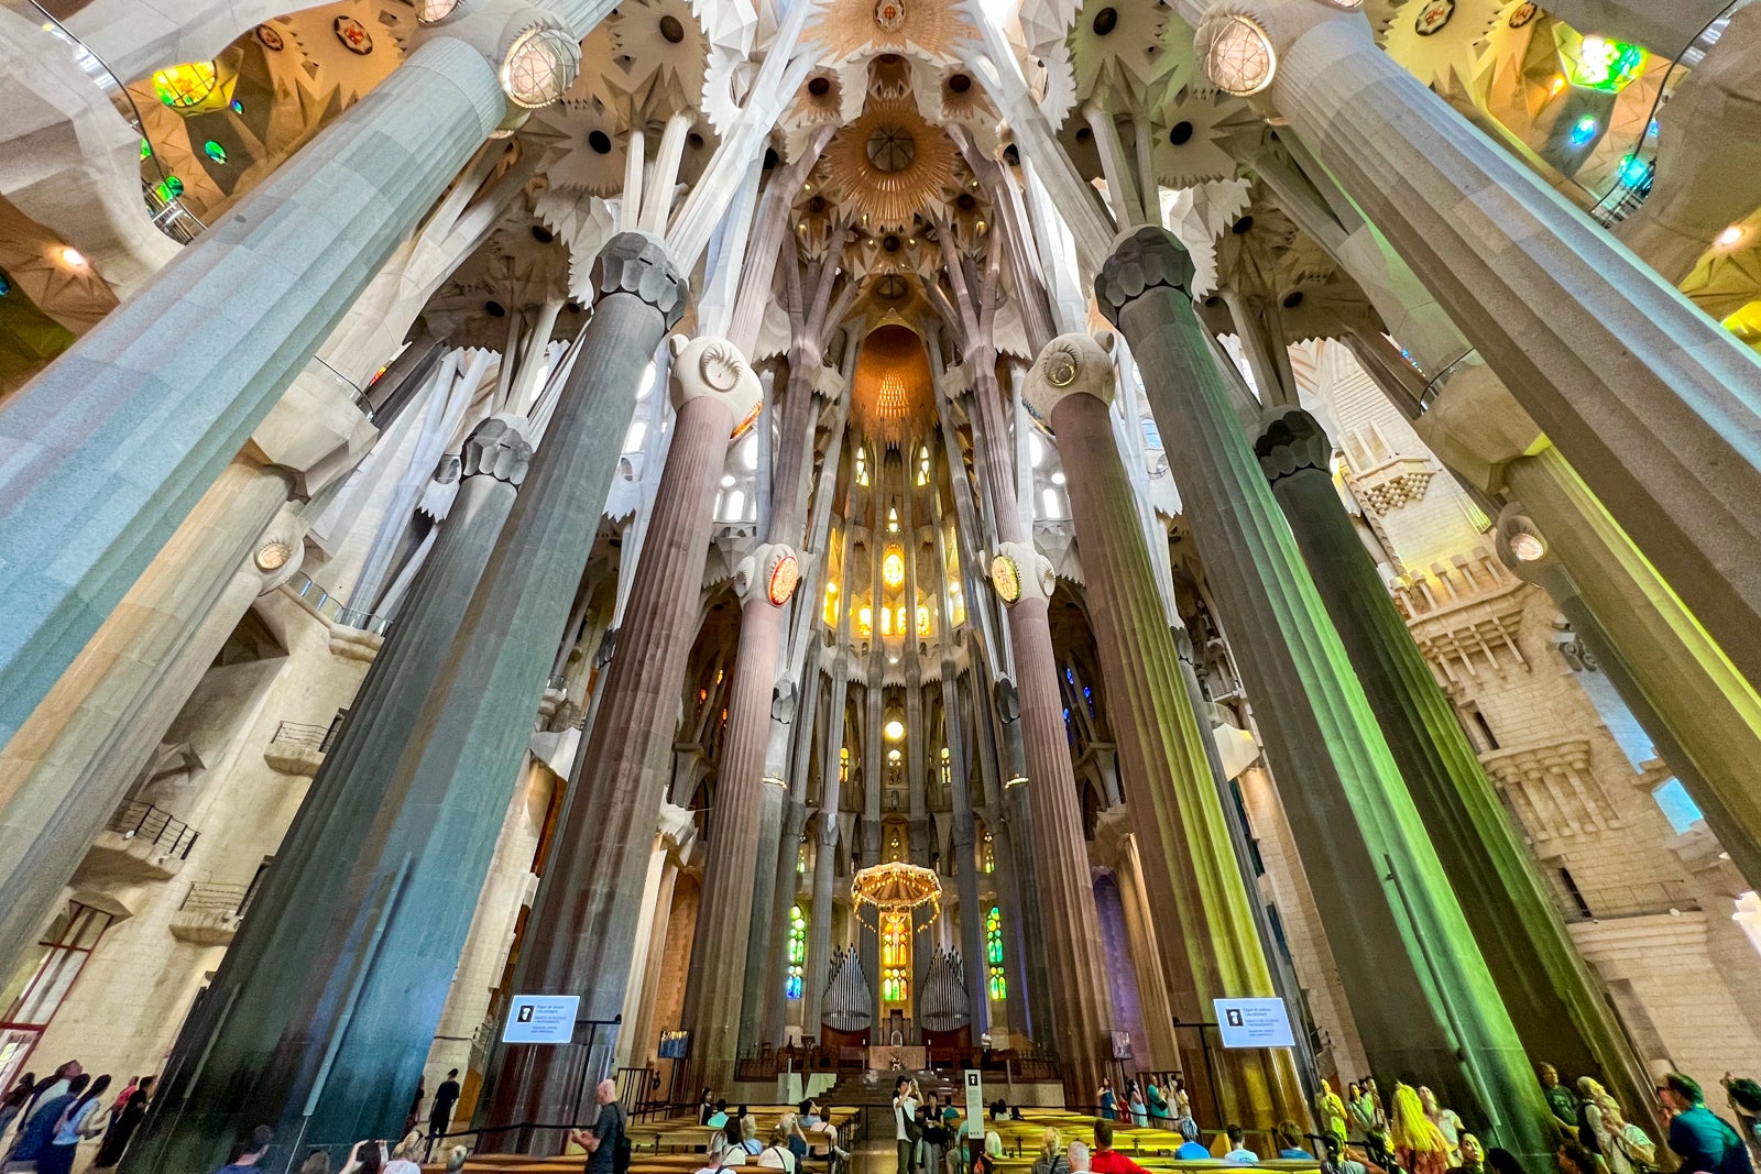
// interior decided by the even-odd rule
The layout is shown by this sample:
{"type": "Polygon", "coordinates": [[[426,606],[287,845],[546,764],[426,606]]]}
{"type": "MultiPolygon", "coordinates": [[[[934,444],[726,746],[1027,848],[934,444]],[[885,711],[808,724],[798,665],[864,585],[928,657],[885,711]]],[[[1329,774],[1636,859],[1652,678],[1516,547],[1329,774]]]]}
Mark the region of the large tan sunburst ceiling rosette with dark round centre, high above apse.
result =
{"type": "Polygon", "coordinates": [[[958,153],[910,99],[870,102],[824,153],[829,195],[868,232],[905,232],[954,181],[958,153]]]}

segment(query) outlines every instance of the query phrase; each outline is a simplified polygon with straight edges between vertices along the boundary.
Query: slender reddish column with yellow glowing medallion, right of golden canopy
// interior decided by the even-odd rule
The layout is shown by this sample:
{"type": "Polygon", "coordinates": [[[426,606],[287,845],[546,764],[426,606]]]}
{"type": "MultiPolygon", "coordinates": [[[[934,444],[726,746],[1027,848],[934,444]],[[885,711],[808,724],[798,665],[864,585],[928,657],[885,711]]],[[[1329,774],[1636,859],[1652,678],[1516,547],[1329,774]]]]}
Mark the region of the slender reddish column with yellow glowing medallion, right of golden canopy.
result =
{"type": "MultiPolygon", "coordinates": [[[[1004,447],[1002,389],[997,356],[979,347],[967,357],[972,401],[981,424],[981,475],[997,503],[997,558],[991,586],[1009,611],[1014,649],[1016,699],[1027,759],[1027,778],[1009,780],[1027,789],[1034,834],[1032,880],[1037,922],[1050,972],[1051,1035],[1064,1063],[1064,1088],[1072,1104],[1088,1104],[1111,1060],[1108,987],[1101,963],[1101,919],[1088,880],[1088,845],[1076,801],[1076,773],[1064,734],[1058,697],[1058,662],[1048,621],[1051,563],[1034,549],[1016,509],[1014,468],[1004,447]]],[[[1016,841],[1021,847],[1021,841],[1016,841]]],[[[1044,1038],[1044,1026],[1039,1028],[1044,1038]]]]}

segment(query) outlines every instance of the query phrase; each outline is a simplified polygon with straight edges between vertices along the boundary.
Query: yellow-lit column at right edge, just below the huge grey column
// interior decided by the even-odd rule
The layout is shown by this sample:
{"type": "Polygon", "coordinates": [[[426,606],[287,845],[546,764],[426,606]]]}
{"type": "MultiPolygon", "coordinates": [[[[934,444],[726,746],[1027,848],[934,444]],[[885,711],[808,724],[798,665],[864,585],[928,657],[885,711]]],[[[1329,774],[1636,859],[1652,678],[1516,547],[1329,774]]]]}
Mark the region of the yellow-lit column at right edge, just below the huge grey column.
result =
{"type": "MultiPolygon", "coordinates": [[[[1481,488],[1507,488],[1569,577],[1536,581],[1562,609],[1588,607],[1625,672],[1622,697],[1706,815],[1749,884],[1761,884],[1761,695],[1566,456],[1497,378],[1451,380],[1418,421],[1432,452],[1481,488]],[[1571,593],[1555,593],[1562,583],[1571,593]]],[[[1518,567],[1520,569],[1520,567],[1518,567]]],[[[1610,679],[1617,679],[1610,674],[1610,679]]]]}

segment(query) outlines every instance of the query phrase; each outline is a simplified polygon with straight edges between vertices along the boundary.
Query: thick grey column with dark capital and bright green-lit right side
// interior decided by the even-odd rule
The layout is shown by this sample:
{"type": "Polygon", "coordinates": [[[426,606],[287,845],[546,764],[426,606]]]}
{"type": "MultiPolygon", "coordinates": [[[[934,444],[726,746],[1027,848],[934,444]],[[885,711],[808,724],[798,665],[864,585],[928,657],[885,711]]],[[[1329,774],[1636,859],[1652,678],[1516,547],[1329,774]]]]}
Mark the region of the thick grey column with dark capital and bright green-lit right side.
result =
{"type": "Polygon", "coordinates": [[[1321,605],[1192,312],[1192,262],[1139,229],[1095,280],[1148,375],[1150,407],[1284,783],[1352,1017],[1377,1072],[1474,1105],[1544,1155],[1539,1090],[1363,686],[1321,605]]]}

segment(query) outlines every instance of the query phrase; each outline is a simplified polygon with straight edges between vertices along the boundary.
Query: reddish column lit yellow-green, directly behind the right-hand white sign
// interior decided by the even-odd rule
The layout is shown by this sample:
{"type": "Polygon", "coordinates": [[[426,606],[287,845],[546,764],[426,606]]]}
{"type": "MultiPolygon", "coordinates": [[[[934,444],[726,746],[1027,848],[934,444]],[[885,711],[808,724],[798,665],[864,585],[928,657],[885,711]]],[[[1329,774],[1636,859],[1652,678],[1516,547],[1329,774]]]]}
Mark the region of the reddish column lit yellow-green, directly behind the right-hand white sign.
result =
{"type": "MultiPolygon", "coordinates": [[[[1051,422],[1064,458],[1125,806],[1150,845],[1143,878],[1152,906],[1175,919],[1169,933],[1157,935],[1168,996],[1183,1021],[1203,1023],[1213,998],[1270,998],[1271,970],[1205,753],[1210,732],[1199,729],[1187,695],[1118,456],[1113,394],[1113,359],[1087,334],[1053,338],[1027,377],[1027,398],[1051,422]]],[[[1196,1060],[1189,1070],[1205,1070],[1196,1060]]],[[[1270,1126],[1303,1116],[1287,1054],[1233,1053],[1224,1068],[1220,1095],[1231,1119],[1270,1126]]]]}

